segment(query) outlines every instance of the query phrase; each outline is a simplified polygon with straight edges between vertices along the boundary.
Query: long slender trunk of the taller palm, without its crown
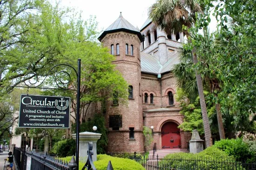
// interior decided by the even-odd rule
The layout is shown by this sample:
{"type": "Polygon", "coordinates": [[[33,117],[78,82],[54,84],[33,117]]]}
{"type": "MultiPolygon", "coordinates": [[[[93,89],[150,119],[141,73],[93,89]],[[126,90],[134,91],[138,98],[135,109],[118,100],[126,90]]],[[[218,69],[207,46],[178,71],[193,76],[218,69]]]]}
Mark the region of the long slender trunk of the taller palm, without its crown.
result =
{"type": "MultiPolygon", "coordinates": [[[[192,57],[193,57],[193,63],[196,65],[198,63],[198,60],[195,54],[195,47],[192,50],[192,57]]],[[[205,98],[203,94],[202,77],[200,74],[198,74],[197,70],[195,70],[195,78],[196,78],[196,84],[197,84],[199,98],[200,98],[205,143],[206,143],[206,147],[209,147],[209,146],[212,146],[211,130],[210,130],[209,118],[207,115],[205,98]]]]}

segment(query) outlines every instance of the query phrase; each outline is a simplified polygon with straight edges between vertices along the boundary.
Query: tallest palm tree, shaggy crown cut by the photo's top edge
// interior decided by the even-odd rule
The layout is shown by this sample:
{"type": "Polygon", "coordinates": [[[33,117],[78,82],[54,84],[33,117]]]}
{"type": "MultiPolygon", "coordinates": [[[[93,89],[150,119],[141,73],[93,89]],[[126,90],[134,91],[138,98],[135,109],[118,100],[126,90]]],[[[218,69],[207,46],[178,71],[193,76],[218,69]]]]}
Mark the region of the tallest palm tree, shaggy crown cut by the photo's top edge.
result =
{"type": "MultiPolygon", "coordinates": [[[[167,34],[183,32],[183,25],[191,27],[193,23],[195,23],[196,12],[203,13],[203,7],[201,7],[195,0],[157,0],[155,4],[149,7],[149,17],[152,22],[167,34]]],[[[187,31],[184,31],[184,33],[189,39],[189,33],[187,31]]],[[[195,52],[196,50],[194,47],[191,53],[193,63],[196,65],[198,63],[198,59],[195,52]]],[[[212,145],[209,118],[203,94],[202,77],[198,74],[197,70],[195,70],[195,78],[200,97],[206,147],[209,147],[212,145]]]]}

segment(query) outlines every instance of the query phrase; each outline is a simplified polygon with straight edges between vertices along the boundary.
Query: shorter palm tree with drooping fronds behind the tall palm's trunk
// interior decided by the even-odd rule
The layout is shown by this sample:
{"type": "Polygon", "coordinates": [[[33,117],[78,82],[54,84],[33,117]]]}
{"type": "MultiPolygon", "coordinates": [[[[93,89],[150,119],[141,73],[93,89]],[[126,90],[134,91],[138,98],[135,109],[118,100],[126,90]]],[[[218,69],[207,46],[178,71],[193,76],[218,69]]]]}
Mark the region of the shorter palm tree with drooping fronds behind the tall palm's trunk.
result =
{"type": "MultiPolygon", "coordinates": [[[[193,39],[196,39],[195,36],[191,35],[193,39]]],[[[214,41],[214,37],[210,36],[209,30],[203,30],[203,36],[200,36],[201,46],[204,50],[210,51],[210,44],[214,41]]],[[[193,67],[193,61],[190,50],[185,50],[184,48],[180,48],[180,64],[175,65],[174,69],[172,70],[177,78],[177,85],[183,89],[183,91],[190,94],[190,98],[195,98],[196,92],[198,91],[196,86],[196,79],[195,74],[193,72],[189,72],[193,67]],[[188,71],[189,70],[189,71],[188,71]]],[[[207,56],[209,57],[209,55],[207,56]]],[[[208,67],[207,59],[201,59],[201,63],[204,68],[208,67]]],[[[204,69],[205,70],[205,69],[204,69]]],[[[218,92],[221,91],[220,83],[221,81],[216,78],[214,73],[204,72],[202,82],[205,85],[205,89],[210,91],[215,97],[218,97],[218,92]]],[[[221,139],[225,139],[225,132],[224,126],[222,122],[222,113],[220,111],[220,104],[216,103],[216,118],[218,123],[218,129],[221,139]]]]}

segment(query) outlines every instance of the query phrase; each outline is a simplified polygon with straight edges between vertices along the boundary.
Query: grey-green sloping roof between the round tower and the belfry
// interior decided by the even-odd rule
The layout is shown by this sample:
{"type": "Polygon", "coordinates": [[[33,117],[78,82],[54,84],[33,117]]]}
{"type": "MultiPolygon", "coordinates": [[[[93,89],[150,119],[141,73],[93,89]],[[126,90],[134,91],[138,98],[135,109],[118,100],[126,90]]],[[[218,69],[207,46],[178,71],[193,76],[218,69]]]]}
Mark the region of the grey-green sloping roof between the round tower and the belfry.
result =
{"type": "Polygon", "coordinates": [[[173,66],[178,63],[180,63],[178,55],[172,56],[165,65],[161,65],[158,59],[152,55],[141,52],[141,72],[162,74],[171,71],[173,66]]]}

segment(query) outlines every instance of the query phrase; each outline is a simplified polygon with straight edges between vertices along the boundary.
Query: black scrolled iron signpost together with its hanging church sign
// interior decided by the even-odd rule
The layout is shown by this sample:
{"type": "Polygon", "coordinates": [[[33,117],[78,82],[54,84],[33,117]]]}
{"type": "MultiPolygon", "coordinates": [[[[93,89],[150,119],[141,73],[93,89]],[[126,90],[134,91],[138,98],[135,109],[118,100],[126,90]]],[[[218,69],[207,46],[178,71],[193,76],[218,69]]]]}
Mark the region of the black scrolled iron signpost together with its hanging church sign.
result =
{"type": "MultiPolygon", "coordinates": [[[[39,88],[39,89],[62,89],[62,90],[74,90],[74,86],[77,85],[77,100],[76,100],[76,164],[79,167],[79,130],[80,130],[80,80],[81,80],[81,59],[78,59],[77,70],[67,64],[58,64],[54,65],[47,73],[43,81],[38,83],[39,76],[35,72],[28,72],[24,76],[24,84],[27,85],[27,80],[29,80],[28,88],[39,88]],[[53,74],[53,70],[59,66],[69,67],[64,70],[57,70],[58,73],[53,74]],[[77,81],[71,82],[71,76],[69,71],[72,70],[76,74],[77,81]],[[61,81],[61,78],[65,77],[63,74],[66,74],[64,81],[61,81]],[[47,76],[55,75],[55,83],[58,88],[42,88],[44,80],[47,76]],[[35,83],[31,83],[30,79],[34,78],[35,83]],[[32,85],[32,86],[31,86],[32,85]]],[[[14,87],[23,87],[24,86],[10,86],[7,88],[7,92],[11,92],[14,87]]],[[[24,95],[24,94],[22,94],[24,95]]],[[[20,118],[19,118],[19,127],[33,127],[33,128],[69,128],[69,118],[70,118],[70,98],[66,97],[53,97],[53,96],[35,96],[35,95],[25,95],[20,97],[23,100],[23,103],[20,106],[20,118]],[[26,97],[27,96],[27,97],[26,97]],[[68,107],[67,107],[68,105],[68,107]],[[50,107],[52,106],[52,107],[50,107]],[[66,108],[67,107],[67,108],[66,108]],[[45,110],[43,108],[46,108],[45,110]],[[68,110],[68,111],[67,111],[68,110]],[[57,112],[57,113],[56,113],[57,112]],[[46,119],[46,120],[45,120],[46,119]],[[68,122],[68,123],[67,123],[68,122]]]]}

